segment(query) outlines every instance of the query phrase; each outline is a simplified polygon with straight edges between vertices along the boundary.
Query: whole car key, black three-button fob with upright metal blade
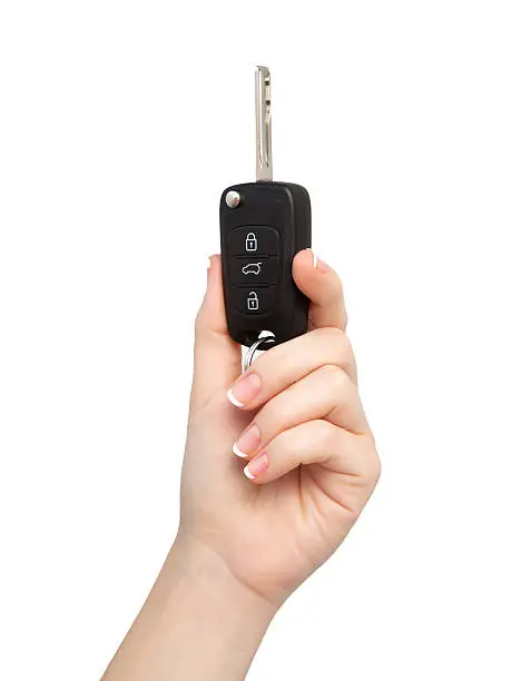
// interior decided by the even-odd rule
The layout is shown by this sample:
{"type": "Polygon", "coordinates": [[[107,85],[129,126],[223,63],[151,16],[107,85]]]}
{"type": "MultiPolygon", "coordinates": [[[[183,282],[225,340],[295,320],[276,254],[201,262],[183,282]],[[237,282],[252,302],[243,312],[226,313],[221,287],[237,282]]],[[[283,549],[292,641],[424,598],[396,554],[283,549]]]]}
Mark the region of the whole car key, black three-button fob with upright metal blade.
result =
{"type": "Polygon", "coordinates": [[[312,218],[304,187],[273,181],[267,67],[256,69],[255,106],[256,182],[222,194],[223,288],[230,336],[253,347],[267,336],[271,347],[307,330],[309,302],[292,277],[292,263],[312,245],[312,218]]]}

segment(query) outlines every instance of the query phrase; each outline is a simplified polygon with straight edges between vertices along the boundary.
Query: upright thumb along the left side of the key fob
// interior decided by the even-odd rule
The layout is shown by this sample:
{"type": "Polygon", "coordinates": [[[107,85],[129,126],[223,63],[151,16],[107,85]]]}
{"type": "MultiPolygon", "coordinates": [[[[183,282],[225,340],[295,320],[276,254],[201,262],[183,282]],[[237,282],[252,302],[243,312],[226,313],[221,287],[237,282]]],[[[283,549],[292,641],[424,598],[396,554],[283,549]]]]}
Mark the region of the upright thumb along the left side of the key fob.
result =
{"type": "Polygon", "coordinates": [[[213,396],[225,399],[225,393],[242,373],[240,347],[227,332],[222,259],[215,255],[209,263],[207,290],[195,326],[191,411],[204,406],[213,396]]]}

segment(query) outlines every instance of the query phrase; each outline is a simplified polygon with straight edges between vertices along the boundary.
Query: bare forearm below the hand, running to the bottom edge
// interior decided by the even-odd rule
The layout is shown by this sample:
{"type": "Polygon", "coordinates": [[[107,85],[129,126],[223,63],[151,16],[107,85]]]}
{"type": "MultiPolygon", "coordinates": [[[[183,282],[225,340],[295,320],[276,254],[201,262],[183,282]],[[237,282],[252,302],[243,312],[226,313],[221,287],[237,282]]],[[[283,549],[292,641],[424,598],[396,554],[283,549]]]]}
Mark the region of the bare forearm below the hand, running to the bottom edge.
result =
{"type": "Polygon", "coordinates": [[[274,615],[204,546],[178,537],[102,681],[238,681],[274,615]]]}

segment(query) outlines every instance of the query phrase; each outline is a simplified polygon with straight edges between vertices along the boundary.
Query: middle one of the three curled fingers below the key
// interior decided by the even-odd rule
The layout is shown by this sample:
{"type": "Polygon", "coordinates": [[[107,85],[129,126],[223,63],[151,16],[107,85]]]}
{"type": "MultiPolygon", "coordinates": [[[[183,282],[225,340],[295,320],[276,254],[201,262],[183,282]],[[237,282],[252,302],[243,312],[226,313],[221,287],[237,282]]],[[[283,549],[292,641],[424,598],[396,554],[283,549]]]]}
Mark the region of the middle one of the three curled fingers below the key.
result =
{"type": "Polygon", "coordinates": [[[351,433],[370,433],[356,386],[334,365],[319,367],[269,399],[255,414],[233,451],[250,458],[283,431],[319,418],[351,433]]]}

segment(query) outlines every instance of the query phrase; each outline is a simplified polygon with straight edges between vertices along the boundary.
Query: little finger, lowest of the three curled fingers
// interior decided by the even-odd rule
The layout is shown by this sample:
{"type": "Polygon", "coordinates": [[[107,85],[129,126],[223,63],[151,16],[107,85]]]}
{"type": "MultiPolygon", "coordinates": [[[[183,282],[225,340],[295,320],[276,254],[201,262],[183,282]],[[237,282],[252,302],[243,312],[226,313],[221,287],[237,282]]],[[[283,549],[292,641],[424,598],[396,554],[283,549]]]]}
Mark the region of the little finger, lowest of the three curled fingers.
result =
{"type": "MultiPolygon", "coordinates": [[[[380,474],[380,462],[367,438],[323,420],[308,421],[283,431],[244,471],[253,482],[266,484],[301,464],[321,464],[327,471],[363,477],[364,481],[367,477],[377,480],[380,474]]],[[[355,484],[355,481],[348,482],[355,484]]],[[[323,484],[324,480],[319,483],[323,484]]]]}

